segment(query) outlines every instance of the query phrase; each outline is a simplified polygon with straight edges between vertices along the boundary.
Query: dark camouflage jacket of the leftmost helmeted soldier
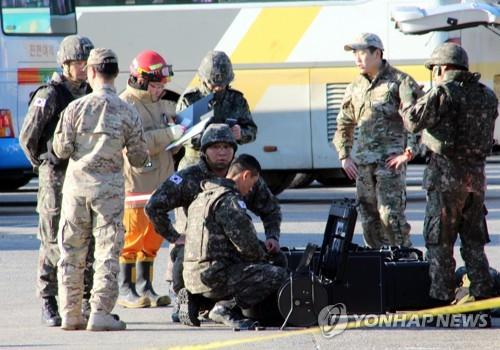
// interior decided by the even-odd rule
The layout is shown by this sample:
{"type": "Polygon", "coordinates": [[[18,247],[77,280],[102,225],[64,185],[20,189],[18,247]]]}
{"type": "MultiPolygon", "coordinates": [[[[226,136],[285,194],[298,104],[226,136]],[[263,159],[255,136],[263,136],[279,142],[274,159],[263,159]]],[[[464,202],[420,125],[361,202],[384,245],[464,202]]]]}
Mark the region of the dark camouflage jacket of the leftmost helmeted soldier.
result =
{"type": "Polygon", "coordinates": [[[87,84],[83,84],[80,89],[72,88],[63,75],[55,72],[47,85],[42,85],[34,92],[19,134],[19,144],[33,167],[40,166],[44,160],[48,163],[49,160],[57,162],[50,163],[52,166],[66,167],[67,162],[49,157],[47,153],[52,150],[48,149],[47,143],[52,140],[61,111],[89,89],[87,84]]]}

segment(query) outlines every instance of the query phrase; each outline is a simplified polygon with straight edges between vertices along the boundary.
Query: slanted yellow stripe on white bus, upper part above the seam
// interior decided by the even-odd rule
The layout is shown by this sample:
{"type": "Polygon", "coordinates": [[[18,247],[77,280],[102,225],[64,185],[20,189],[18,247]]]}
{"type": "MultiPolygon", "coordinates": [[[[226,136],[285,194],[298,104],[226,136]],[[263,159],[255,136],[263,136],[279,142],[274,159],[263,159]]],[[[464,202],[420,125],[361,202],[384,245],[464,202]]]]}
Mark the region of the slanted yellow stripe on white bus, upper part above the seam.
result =
{"type": "Polygon", "coordinates": [[[231,55],[233,64],[282,63],[321,7],[264,8],[231,55]]]}

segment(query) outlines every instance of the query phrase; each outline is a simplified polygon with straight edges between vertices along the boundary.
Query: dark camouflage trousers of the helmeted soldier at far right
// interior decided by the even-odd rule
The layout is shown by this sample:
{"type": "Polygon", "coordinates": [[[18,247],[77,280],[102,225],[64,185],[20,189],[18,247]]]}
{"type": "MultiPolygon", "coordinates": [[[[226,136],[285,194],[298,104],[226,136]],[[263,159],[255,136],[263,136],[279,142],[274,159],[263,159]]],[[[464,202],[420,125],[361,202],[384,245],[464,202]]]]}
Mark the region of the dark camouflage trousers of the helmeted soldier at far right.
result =
{"type": "Polygon", "coordinates": [[[460,235],[460,254],[471,281],[470,294],[476,298],[493,295],[493,280],[484,245],[489,242],[485,220],[484,193],[427,192],[424,238],[431,277],[430,296],[455,298],[453,246],[460,235]]]}

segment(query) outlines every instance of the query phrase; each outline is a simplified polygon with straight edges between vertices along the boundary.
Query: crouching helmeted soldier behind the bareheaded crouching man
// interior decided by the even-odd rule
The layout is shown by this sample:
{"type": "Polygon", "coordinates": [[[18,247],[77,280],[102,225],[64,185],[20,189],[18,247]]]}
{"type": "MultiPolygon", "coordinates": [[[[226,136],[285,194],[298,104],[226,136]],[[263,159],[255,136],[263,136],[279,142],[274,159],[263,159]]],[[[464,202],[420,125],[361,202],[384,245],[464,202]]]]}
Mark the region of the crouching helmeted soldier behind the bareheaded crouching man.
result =
{"type": "MultiPolygon", "coordinates": [[[[228,125],[209,125],[201,139],[202,156],[198,163],[174,173],[153,193],[146,204],[146,214],[153,223],[156,232],[171,243],[177,242],[171,254],[173,260],[173,276],[171,276],[171,279],[175,293],[178,293],[184,287],[182,278],[183,234],[186,230],[188,207],[201,192],[201,181],[226,176],[237,147],[236,140],[228,125]],[[174,228],[168,212],[176,208],[174,228]]],[[[278,200],[261,178],[259,178],[253,190],[244,196],[244,200],[247,207],[262,219],[266,235],[264,243],[267,252],[274,259],[281,260],[279,264],[285,265],[284,259],[277,254],[280,252],[281,224],[281,209],[278,200]]],[[[175,316],[174,312],[173,320],[178,321],[175,316]]]]}

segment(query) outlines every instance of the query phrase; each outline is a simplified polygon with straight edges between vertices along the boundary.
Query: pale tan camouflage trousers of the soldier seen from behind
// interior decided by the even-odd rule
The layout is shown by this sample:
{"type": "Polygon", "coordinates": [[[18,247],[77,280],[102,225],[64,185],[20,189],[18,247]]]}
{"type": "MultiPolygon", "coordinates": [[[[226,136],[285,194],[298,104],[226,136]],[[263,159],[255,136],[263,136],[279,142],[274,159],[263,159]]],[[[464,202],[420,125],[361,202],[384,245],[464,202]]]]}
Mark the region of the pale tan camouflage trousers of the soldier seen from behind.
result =
{"type": "Polygon", "coordinates": [[[84,270],[92,238],[95,239],[92,312],[111,312],[118,297],[118,258],[123,247],[124,196],[98,198],[64,195],[58,263],[59,302],[62,317],[80,315],[84,270]]]}

